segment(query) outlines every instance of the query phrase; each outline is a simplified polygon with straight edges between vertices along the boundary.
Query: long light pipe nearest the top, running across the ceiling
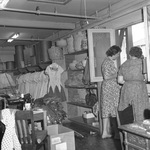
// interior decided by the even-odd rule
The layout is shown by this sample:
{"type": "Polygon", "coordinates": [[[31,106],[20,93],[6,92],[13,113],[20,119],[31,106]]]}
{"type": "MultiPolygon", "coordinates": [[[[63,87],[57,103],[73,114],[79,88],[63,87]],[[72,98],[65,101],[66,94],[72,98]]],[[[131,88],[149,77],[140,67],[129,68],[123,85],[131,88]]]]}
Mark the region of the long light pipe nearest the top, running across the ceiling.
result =
{"type": "Polygon", "coordinates": [[[32,10],[13,9],[13,8],[1,8],[1,11],[28,13],[28,14],[55,16],[55,17],[77,18],[77,19],[91,19],[91,20],[98,19],[98,17],[93,17],[93,16],[81,16],[81,15],[72,15],[72,14],[63,14],[63,13],[43,12],[40,10],[32,11],[32,10]]]}

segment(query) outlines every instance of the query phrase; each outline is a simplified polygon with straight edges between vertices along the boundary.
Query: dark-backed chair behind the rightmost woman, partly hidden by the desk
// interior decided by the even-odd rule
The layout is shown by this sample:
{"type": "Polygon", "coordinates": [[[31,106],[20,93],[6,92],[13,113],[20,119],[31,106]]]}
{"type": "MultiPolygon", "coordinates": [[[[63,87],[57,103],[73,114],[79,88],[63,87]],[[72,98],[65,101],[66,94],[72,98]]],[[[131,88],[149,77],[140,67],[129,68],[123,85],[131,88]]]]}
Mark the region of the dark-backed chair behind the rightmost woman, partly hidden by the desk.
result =
{"type": "MultiPolygon", "coordinates": [[[[117,117],[118,126],[133,123],[135,120],[133,104],[129,105],[123,111],[118,111],[118,109],[116,109],[116,115],[117,115],[116,117],[117,117]]],[[[119,135],[120,135],[121,148],[122,150],[124,150],[125,149],[125,146],[123,143],[124,135],[121,131],[119,131],[119,135]]]]}

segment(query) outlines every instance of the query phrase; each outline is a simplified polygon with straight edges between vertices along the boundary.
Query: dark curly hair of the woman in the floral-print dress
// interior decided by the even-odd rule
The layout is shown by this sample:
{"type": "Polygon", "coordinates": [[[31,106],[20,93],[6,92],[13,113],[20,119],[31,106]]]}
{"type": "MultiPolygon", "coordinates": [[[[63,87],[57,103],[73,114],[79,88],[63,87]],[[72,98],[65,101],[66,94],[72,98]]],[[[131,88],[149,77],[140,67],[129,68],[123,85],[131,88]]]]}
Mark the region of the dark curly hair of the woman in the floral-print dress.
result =
{"type": "Polygon", "coordinates": [[[116,55],[117,53],[121,52],[121,48],[117,45],[113,45],[111,46],[107,51],[106,51],[106,55],[107,56],[113,56],[116,55]]]}

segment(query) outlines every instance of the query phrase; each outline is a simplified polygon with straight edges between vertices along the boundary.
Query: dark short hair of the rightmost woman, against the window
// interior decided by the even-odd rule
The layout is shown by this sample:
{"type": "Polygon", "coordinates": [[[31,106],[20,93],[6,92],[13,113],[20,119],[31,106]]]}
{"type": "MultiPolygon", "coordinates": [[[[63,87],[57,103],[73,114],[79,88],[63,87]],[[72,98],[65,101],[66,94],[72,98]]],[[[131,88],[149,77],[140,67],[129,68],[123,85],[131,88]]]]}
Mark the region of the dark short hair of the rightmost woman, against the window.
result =
{"type": "Polygon", "coordinates": [[[131,47],[131,49],[129,51],[129,55],[137,57],[137,58],[141,58],[142,57],[142,49],[138,46],[133,46],[133,47],[131,47]]]}

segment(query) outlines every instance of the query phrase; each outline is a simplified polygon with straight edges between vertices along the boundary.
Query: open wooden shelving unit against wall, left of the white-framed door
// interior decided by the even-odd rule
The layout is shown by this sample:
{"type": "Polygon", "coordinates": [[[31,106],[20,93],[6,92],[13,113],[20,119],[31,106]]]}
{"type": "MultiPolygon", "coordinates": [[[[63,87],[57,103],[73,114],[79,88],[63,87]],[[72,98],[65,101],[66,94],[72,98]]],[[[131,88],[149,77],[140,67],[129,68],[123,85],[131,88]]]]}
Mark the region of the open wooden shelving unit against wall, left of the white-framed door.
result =
{"type": "MultiPolygon", "coordinates": [[[[66,61],[66,68],[69,68],[69,64],[73,62],[73,60],[81,61],[85,59],[88,56],[88,50],[82,50],[70,54],[65,55],[65,61],[66,61]]],[[[83,70],[70,70],[68,69],[68,79],[74,75],[74,72],[76,74],[83,74],[83,70]]],[[[84,86],[84,84],[78,85],[66,85],[65,86],[68,89],[68,102],[67,102],[67,108],[68,108],[68,119],[84,128],[89,129],[90,131],[96,131],[100,132],[99,125],[93,126],[92,124],[85,123],[82,114],[84,111],[91,111],[93,112],[93,107],[88,106],[85,102],[85,91],[86,89],[92,89],[97,94],[98,88],[97,84],[94,84],[93,86],[84,86]],[[83,93],[82,93],[83,91],[83,93]]],[[[98,97],[98,96],[97,96],[98,97]]],[[[99,113],[98,113],[99,114],[99,113]]],[[[99,116],[97,117],[99,118],[99,116]]],[[[99,122],[99,119],[98,121],[99,122]]]]}

